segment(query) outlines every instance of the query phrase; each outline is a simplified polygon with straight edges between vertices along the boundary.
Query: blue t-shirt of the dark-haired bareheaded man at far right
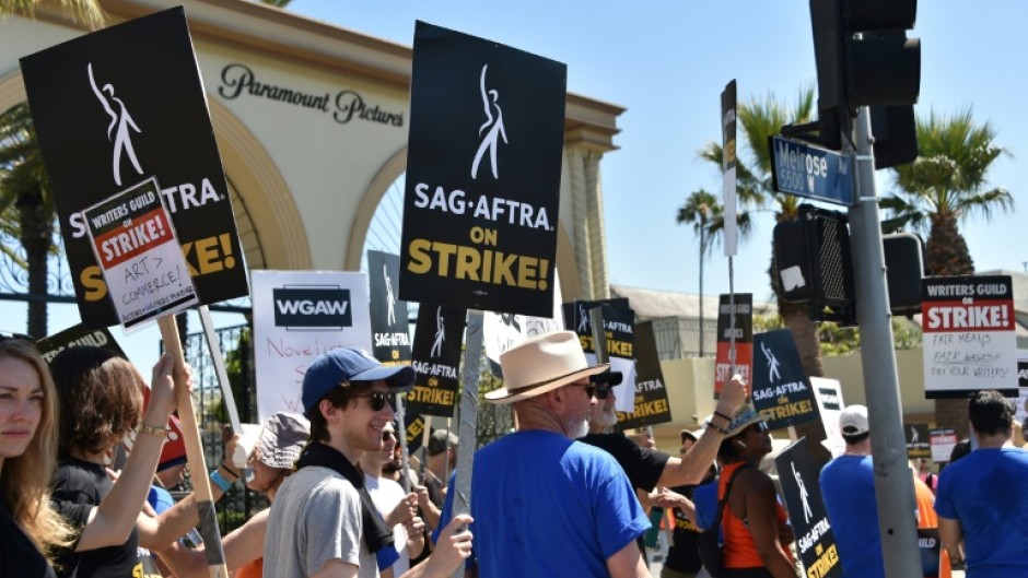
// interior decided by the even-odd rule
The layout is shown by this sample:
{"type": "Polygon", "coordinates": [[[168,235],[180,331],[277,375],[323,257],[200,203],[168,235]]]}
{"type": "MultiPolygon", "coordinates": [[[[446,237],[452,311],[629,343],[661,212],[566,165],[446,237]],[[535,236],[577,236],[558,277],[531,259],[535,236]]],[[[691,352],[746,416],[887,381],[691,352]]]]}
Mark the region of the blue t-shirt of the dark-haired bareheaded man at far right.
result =
{"type": "Polygon", "coordinates": [[[935,511],[959,520],[967,578],[1028,576],[1028,452],[977,449],[943,469],[935,511]]]}

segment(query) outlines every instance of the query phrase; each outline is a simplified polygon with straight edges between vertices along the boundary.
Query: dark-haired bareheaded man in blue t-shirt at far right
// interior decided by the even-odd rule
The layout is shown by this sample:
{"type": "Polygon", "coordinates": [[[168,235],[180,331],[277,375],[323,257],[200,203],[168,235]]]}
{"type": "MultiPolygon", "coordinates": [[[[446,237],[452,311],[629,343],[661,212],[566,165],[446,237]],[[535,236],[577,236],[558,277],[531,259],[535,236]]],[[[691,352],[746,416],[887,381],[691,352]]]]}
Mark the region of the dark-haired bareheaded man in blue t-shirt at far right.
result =
{"type": "Polygon", "coordinates": [[[978,449],[943,469],[935,511],[953,561],[967,558],[967,578],[1028,576],[1028,452],[1011,445],[1014,404],[997,391],[968,402],[978,449]]]}

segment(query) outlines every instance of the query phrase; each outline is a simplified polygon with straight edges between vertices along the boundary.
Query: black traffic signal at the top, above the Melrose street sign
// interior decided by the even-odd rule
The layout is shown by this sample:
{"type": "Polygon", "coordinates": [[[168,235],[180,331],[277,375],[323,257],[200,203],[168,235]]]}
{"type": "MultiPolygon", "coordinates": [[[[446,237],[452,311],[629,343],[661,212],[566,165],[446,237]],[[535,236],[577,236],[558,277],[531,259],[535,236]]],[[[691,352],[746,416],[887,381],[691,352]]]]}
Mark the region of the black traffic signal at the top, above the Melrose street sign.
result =
{"type": "Polygon", "coordinates": [[[810,0],[820,129],[811,140],[841,150],[858,107],[918,102],[921,40],[906,34],[916,12],[916,0],[810,0]]]}

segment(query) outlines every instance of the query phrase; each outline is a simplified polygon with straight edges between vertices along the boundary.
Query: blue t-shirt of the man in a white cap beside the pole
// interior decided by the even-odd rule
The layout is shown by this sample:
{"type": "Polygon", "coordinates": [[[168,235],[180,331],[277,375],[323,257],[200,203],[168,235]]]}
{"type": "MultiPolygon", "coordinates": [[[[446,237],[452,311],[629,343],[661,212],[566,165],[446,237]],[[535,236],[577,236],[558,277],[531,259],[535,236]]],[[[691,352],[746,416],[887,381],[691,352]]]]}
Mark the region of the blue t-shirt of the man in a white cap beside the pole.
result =
{"type": "Polygon", "coordinates": [[[839,456],[821,470],[820,485],[842,576],[885,578],[871,456],[839,456]]]}

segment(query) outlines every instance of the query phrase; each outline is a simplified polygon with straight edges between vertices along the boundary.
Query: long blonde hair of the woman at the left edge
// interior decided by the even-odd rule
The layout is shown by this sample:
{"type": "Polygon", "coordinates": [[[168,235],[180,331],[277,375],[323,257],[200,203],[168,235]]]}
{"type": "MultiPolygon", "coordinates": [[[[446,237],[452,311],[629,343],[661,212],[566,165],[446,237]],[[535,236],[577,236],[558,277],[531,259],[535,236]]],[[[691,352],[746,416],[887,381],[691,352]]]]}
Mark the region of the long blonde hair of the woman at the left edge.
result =
{"type": "Polygon", "coordinates": [[[21,456],[3,460],[0,498],[36,548],[52,562],[55,547],[72,543],[71,528],[50,508],[50,480],[57,469],[57,388],[46,362],[31,342],[19,339],[0,341],[0,358],[19,359],[31,365],[43,386],[43,410],[32,441],[21,456]]]}

